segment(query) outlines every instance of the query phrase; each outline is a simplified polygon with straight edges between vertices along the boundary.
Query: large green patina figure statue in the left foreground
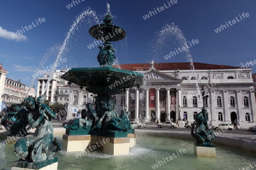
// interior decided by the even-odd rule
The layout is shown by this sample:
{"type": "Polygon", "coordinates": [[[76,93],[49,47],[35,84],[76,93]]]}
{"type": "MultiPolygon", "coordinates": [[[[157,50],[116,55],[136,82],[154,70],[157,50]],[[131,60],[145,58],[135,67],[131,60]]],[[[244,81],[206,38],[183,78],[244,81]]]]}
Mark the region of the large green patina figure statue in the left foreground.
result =
{"type": "Polygon", "coordinates": [[[17,114],[19,121],[13,124],[13,133],[16,130],[25,129],[27,125],[30,128],[36,128],[34,135],[26,135],[20,138],[14,145],[14,152],[20,160],[24,162],[36,163],[47,159],[53,159],[52,155],[61,150],[61,145],[57,139],[53,139],[52,118],[56,118],[55,113],[44,104],[46,96],[27,97],[24,99],[21,109],[17,114]],[[51,145],[56,147],[51,150],[51,145]]]}

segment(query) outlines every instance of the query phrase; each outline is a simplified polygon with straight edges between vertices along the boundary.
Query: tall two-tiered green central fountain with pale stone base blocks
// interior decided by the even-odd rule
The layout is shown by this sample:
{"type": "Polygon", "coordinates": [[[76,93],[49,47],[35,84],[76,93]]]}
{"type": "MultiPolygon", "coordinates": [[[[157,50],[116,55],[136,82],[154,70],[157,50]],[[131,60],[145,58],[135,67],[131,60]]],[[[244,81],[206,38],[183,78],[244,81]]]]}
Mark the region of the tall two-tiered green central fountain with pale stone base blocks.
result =
{"type": "Polygon", "coordinates": [[[121,70],[112,67],[115,49],[111,42],[122,40],[125,30],[113,25],[109,11],[103,20],[104,24],[94,25],[89,33],[95,39],[104,41],[99,46],[97,59],[99,67],[73,68],[61,76],[69,84],[75,83],[86,91],[97,94],[95,109],[93,104],[87,104],[89,117],[78,118],[64,125],[66,134],[63,136],[63,149],[66,151],[84,151],[94,143],[109,139],[101,148],[105,153],[118,155],[128,154],[129,147],[135,145],[134,129],[128,119],[129,112],[118,114],[112,95],[121,94],[126,88],[139,87],[144,76],[134,71],[121,70]],[[113,87],[111,84],[117,84],[113,87]],[[113,88],[110,88],[113,87],[113,88]],[[120,115],[120,116],[119,116],[120,115]]]}

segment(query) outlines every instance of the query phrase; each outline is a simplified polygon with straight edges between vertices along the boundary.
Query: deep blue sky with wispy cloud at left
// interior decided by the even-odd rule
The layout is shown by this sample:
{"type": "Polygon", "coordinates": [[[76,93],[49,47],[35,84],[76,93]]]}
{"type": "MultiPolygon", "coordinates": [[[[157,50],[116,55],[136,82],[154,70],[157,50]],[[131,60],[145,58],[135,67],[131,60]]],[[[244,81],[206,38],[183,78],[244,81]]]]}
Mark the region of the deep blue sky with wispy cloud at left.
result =
{"type": "MultiPolygon", "coordinates": [[[[74,1],[75,2],[75,1],[74,1]]],[[[113,42],[117,49],[115,56],[122,63],[149,63],[154,59],[157,63],[186,62],[185,53],[179,53],[172,58],[165,59],[170,51],[181,47],[176,37],[165,35],[164,39],[156,39],[159,31],[166,24],[174,23],[183,32],[188,41],[199,40],[189,50],[193,62],[212,63],[217,65],[241,66],[241,63],[256,59],[256,1],[226,0],[226,1],[190,1],[177,0],[168,6],[170,1],[105,1],[105,0],[77,0],[76,6],[69,6],[70,0],[2,0],[0,1],[0,63],[9,73],[8,78],[21,80],[30,86],[34,75],[43,63],[44,68],[55,61],[59,46],[63,44],[67,32],[76,17],[90,7],[99,20],[104,19],[106,3],[110,4],[114,24],[126,31],[126,38],[113,42]],[[164,7],[148,19],[143,19],[154,8],[164,7]],[[248,12],[249,16],[243,20],[240,15],[248,12]],[[229,25],[216,33],[214,29],[238,18],[240,22],[229,25]],[[39,23],[39,18],[45,19],[39,23]],[[36,21],[35,21],[36,20],[36,21]],[[34,25],[32,25],[34,22],[34,25]],[[38,24],[36,24],[38,22],[38,24]],[[13,39],[11,35],[25,26],[20,36],[13,39]],[[160,46],[160,48],[159,48],[160,46]],[[158,48],[158,49],[155,49],[158,48]],[[156,54],[152,51],[157,52],[156,54]],[[46,60],[46,62],[42,62],[46,60]]],[[[171,3],[170,3],[171,4],[171,3]]],[[[95,39],[89,36],[88,30],[97,24],[97,19],[85,16],[73,31],[63,58],[57,69],[68,67],[97,67],[97,47],[89,49],[95,39]]],[[[253,73],[256,66],[251,65],[253,73]]]]}

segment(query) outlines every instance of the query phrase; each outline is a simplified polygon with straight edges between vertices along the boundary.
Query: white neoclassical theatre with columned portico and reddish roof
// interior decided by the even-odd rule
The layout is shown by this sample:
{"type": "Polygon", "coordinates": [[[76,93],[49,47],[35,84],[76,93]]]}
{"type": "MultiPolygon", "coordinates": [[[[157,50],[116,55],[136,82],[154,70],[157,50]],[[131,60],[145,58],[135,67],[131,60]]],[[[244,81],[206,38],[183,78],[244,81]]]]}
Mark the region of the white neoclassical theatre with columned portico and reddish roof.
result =
{"type": "MultiPolygon", "coordinates": [[[[113,96],[118,113],[128,110],[130,120],[144,122],[193,122],[203,107],[200,90],[204,87],[210,126],[226,122],[248,128],[256,123],[255,83],[250,68],[198,62],[193,65],[194,71],[188,62],[119,65],[121,69],[143,73],[145,83],[113,96]]],[[[109,87],[117,87],[129,78],[117,80],[109,87]]],[[[75,117],[77,112],[85,112],[85,104],[95,101],[96,94],[74,85],[57,84],[54,89],[54,102],[67,105],[67,120],[75,117]]]]}

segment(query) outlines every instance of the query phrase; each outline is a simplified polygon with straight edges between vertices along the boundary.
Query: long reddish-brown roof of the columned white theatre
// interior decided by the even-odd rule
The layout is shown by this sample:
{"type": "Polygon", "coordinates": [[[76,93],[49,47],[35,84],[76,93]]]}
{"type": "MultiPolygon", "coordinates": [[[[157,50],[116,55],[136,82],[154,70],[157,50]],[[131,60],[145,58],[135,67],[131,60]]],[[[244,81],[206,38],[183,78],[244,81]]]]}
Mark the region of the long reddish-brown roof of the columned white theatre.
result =
{"type": "MultiPolygon", "coordinates": [[[[200,63],[200,62],[193,62],[195,70],[217,70],[217,69],[239,69],[240,67],[234,66],[225,66],[225,65],[213,65],[208,63],[200,63]]],[[[143,70],[146,71],[150,69],[150,63],[131,63],[131,64],[123,64],[119,66],[120,69],[124,70],[143,70]]],[[[191,65],[189,62],[170,62],[170,63],[154,63],[154,67],[156,70],[191,70],[191,65]]],[[[141,71],[142,71],[141,70],[141,71]]]]}

